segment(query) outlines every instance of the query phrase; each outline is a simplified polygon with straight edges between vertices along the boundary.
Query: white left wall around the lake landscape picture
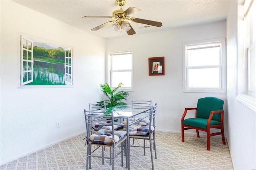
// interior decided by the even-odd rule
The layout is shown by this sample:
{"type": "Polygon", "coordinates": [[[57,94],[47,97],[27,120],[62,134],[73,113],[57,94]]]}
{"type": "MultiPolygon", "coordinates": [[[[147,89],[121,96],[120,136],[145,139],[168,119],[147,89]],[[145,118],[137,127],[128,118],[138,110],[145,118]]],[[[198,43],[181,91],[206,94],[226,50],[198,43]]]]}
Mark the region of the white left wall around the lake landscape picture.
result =
{"type": "Polygon", "coordinates": [[[5,164],[85,132],[83,109],[101,100],[95,94],[105,82],[106,40],[12,1],[0,1],[0,7],[0,163],[5,164]],[[72,47],[74,87],[18,88],[19,33],[72,47]]]}

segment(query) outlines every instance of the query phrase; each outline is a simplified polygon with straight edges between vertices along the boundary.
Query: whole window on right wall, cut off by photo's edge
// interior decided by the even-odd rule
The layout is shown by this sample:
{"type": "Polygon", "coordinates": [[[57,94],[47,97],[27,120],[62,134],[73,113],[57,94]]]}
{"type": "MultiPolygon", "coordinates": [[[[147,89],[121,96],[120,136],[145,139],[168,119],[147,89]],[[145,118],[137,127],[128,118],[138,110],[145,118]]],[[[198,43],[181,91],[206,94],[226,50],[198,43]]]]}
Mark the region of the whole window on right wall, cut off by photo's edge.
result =
{"type": "Polygon", "coordinates": [[[256,3],[253,0],[238,3],[237,37],[236,99],[256,111],[256,3]]]}

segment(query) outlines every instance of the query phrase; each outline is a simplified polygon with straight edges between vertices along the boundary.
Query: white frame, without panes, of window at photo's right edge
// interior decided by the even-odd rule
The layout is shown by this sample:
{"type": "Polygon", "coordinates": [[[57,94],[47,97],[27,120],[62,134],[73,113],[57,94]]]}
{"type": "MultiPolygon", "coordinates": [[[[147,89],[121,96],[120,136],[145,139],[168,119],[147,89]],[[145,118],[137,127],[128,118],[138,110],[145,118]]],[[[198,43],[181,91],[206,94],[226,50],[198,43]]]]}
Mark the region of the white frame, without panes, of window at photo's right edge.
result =
{"type": "MultiPolygon", "coordinates": [[[[251,0],[238,1],[236,99],[253,111],[256,111],[256,92],[250,90],[250,57],[248,54],[250,54],[250,50],[255,47],[256,42],[252,42],[249,37],[251,34],[249,34],[249,36],[247,34],[250,29],[248,28],[246,19],[250,15],[250,12],[255,11],[255,8],[256,2],[251,0]]],[[[254,25],[254,29],[255,27],[254,25]]],[[[251,31],[253,31],[253,29],[251,31]]],[[[255,30],[253,36],[256,36],[255,30]]]]}

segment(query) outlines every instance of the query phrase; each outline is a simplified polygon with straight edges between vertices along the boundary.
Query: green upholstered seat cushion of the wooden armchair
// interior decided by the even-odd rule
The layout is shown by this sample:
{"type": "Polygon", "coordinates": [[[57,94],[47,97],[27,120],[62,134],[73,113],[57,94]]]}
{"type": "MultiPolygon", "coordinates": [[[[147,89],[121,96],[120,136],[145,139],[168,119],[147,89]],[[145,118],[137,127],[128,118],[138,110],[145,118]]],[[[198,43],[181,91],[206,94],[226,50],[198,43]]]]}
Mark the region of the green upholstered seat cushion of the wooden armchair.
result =
{"type": "MultiPolygon", "coordinates": [[[[204,128],[206,129],[206,124],[207,124],[208,119],[202,119],[202,118],[189,118],[185,119],[182,121],[183,125],[190,125],[193,127],[198,127],[198,128],[204,128]]],[[[210,122],[210,125],[219,125],[219,121],[214,121],[212,120],[210,122]]]]}

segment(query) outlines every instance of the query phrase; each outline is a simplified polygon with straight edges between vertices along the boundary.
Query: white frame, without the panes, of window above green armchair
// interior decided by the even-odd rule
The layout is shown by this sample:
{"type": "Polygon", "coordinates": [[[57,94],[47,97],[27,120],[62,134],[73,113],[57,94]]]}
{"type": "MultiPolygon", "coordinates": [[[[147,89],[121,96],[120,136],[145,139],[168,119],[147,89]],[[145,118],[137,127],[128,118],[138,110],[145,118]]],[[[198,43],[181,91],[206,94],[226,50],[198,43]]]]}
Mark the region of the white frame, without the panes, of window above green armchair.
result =
{"type": "Polygon", "coordinates": [[[183,43],[183,92],[194,92],[194,93],[226,93],[226,40],[225,38],[211,39],[211,40],[201,40],[194,42],[183,43]],[[187,47],[191,45],[203,45],[209,43],[221,43],[220,51],[220,63],[219,65],[208,65],[208,66],[198,66],[196,68],[219,68],[220,73],[220,88],[192,88],[188,87],[188,66],[187,58],[187,47]]]}

